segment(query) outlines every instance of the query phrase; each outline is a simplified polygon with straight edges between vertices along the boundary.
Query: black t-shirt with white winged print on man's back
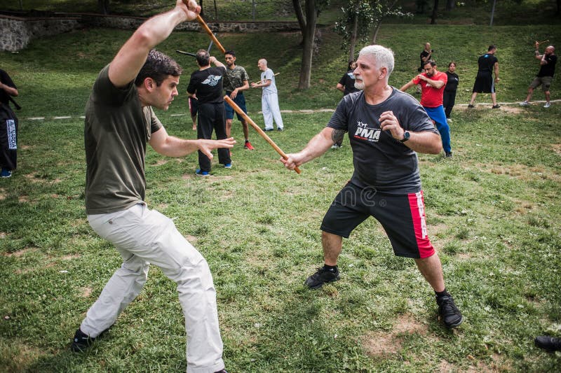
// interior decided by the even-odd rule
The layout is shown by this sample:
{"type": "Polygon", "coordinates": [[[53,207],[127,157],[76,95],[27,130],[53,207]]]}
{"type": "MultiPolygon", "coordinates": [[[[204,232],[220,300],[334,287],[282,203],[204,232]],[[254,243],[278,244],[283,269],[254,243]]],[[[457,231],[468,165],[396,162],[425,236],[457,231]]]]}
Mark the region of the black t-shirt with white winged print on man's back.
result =
{"type": "Polygon", "coordinates": [[[226,74],[225,67],[209,67],[191,73],[187,92],[196,93],[198,104],[224,102],[222,95],[222,76],[226,74]]]}

